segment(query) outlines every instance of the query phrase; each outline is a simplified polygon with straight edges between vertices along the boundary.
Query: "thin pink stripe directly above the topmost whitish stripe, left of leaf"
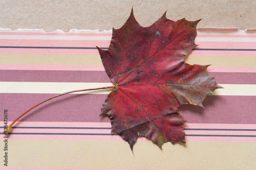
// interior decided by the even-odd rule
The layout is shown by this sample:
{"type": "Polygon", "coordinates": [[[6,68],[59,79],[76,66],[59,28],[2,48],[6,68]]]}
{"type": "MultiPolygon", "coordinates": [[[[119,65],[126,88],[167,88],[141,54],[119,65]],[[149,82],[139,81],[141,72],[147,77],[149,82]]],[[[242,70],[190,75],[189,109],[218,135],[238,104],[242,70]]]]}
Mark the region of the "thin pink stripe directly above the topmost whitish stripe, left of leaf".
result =
{"type": "MultiPolygon", "coordinates": [[[[81,31],[79,31],[81,32],[81,31]]],[[[64,36],[112,36],[112,32],[110,33],[43,33],[43,32],[0,32],[0,35],[45,35],[45,36],[56,36],[56,35],[64,35],[64,36]]]]}

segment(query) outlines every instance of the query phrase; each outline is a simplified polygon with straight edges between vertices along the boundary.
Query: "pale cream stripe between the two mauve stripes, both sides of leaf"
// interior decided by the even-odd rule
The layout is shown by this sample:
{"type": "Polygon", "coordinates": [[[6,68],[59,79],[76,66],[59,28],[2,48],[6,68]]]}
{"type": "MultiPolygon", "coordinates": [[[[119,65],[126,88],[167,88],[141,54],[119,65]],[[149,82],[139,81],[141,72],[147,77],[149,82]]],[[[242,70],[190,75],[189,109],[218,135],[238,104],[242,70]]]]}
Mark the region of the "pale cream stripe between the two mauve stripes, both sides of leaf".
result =
{"type": "MultiPolygon", "coordinates": [[[[255,84],[219,84],[213,95],[256,96],[255,84]]],[[[112,83],[60,83],[60,82],[0,82],[0,93],[53,93],[61,94],[72,90],[113,86],[112,83]]],[[[113,89],[77,92],[78,94],[109,94],[113,89]]]]}

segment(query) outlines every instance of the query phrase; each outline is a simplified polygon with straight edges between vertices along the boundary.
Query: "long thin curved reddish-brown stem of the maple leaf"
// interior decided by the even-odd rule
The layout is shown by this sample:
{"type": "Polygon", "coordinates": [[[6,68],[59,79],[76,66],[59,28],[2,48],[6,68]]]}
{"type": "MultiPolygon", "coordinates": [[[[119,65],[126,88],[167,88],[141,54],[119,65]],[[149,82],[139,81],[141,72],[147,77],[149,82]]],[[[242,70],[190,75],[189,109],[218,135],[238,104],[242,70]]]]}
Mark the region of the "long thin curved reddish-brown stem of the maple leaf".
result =
{"type": "Polygon", "coordinates": [[[22,115],[20,115],[15,121],[13,121],[12,124],[10,124],[10,125],[8,126],[7,130],[5,130],[3,133],[4,133],[5,135],[7,135],[7,134],[9,133],[10,129],[12,128],[13,124],[14,124],[15,122],[17,122],[17,121],[20,119],[20,117],[22,117],[23,115],[25,115],[25,114],[26,114],[27,112],[29,112],[30,110],[34,109],[35,107],[39,106],[40,104],[42,104],[42,103],[44,103],[44,102],[46,102],[46,101],[48,101],[48,100],[51,100],[51,99],[53,99],[53,98],[55,98],[55,97],[59,97],[59,96],[66,95],[66,94],[69,94],[69,93],[74,93],[74,92],[79,92],[79,91],[99,90],[99,89],[106,89],[106,88],[115,88],[115,85],[114,85],[114,86],[107,86],[107,87],[98,87],[98,88],[89,88],[89,89],[83,89],[83,90],[69,91],[69,92],[62,93],[62,94],[59,94],[59,95],[57,95],[57,96],[51,97],[51,98],[49,98],[49,99],[46,99],[45,101],[42,101],[41,103],[38,103],[37,105],[35,105],[35,106],[31,107],[30,109],[28,109],[28,110],[27,110],[26,112],[24,112],[22,115]]]}

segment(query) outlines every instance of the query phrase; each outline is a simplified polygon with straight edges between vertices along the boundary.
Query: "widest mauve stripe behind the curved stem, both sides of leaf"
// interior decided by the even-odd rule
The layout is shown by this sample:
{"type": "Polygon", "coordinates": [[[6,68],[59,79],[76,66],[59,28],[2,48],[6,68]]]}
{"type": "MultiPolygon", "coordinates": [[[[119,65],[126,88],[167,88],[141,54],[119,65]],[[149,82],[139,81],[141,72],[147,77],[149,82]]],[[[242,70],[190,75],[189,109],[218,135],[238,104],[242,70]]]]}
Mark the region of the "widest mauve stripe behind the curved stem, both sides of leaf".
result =
{"type": "MultiPolygon", "coordinates": [[[[8,110],[8,121],[35,104],[55,94],[0,94],[0,106],[8,110]],[[14,110],[15,108],[15,110],[14,110]],[[10,114],[9,114],[10,113],[10,114]]],[[[29,122],[108,122],[108,117],[99,113],[105,94],[68,94],[42,104],[25,115],[20,121],[29,122]]],[[[256,96],[210,96],[203,106],[183,105],[179,107],[189,123],[255,124],[256,96]]]]}

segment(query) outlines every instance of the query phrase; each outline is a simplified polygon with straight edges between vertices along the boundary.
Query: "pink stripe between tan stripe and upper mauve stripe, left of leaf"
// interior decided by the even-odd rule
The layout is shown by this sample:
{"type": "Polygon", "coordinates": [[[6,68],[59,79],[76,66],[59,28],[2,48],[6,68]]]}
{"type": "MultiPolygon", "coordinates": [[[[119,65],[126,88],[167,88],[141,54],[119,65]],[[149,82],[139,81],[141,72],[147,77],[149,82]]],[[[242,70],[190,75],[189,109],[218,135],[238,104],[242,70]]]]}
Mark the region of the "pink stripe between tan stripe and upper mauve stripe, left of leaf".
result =
{"type": "Polygon", "coordinates": [[[105,71],[103,65],[0,64],[0,70],[105,71]]]}

